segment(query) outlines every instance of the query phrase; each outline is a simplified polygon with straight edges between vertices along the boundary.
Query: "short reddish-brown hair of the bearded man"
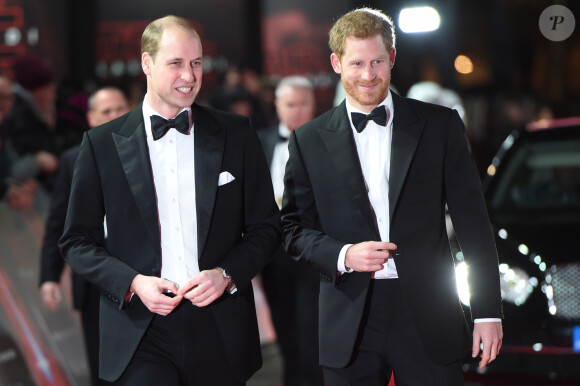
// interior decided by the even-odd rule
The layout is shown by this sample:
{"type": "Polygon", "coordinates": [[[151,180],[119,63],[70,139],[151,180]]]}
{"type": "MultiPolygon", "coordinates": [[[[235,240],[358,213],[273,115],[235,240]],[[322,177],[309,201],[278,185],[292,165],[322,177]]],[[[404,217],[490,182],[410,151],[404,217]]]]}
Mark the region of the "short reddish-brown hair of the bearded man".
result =
{"type": "Polygon", "coordinates": [[[365,39],[381,35],[388,51],[395,48],[395,27],[390,17],[372,8],[358,8],[341,16],[328,33],[328,46],[338,58],[347,37],[365,39]]]}

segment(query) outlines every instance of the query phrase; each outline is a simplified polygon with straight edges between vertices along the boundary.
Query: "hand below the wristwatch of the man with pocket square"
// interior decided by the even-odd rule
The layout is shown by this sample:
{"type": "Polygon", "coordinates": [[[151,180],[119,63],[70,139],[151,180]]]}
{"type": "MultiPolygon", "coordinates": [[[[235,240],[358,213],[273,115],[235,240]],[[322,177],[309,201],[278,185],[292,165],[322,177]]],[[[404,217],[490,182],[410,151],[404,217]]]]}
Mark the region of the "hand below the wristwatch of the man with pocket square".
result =
{"type": "Polygon", "coordinates": [[[201,271],[179,289],[178,295],[189,299],[197,307],[213,303],[224,293],[228,280],[221,268],[201,271]]]}

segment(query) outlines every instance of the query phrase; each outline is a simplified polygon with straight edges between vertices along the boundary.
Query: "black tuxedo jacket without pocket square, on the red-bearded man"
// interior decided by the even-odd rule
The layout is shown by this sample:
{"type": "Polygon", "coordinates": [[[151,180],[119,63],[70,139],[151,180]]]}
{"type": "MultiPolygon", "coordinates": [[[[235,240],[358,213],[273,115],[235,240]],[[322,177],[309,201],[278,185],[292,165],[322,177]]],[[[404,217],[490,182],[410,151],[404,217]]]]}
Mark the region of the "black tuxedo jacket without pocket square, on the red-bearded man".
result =
{"type": "MultiPolygon", "coordinates": [[[[402,292],[435,363],[471,346],[445,229],[448,205],[470,276],[473,318],[502,317],[497,253],[465,129],[454,110],[393,93],[390,240],[402,292]]],[[[286,166],[282,228],[288,253],[321,274],[320,362],[353,352],[370,273],[337,274],[347,243],[380,240],[345,103],[295,131],[286,166]]]]}

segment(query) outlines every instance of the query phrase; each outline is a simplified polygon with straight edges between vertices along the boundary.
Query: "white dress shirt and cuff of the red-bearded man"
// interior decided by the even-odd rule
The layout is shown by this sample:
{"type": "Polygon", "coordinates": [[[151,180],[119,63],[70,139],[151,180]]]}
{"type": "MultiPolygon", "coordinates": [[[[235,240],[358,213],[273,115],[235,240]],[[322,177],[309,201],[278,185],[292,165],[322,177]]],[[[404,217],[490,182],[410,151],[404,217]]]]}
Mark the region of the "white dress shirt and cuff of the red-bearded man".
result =
{"type": "MultiPolygon", "coordinates": [[[[394,116],[393,97],[390,92],[379,106],[385,106],[387,109],[386,126],[380,126],[375,121],[369,120],[365,129],[359,133],[352,123],[351,113],[363,112],[352,106],[348,99],[346,100],[346,112],[353,131],[369,201],[375,214],[379,235],[381,236],[381,241],[389,241],[389,174],[394,116]]],[[[347,272],[344,259],[346,250],[351,245],[345,245],[339,254],[337,264],[339,272],[347,272]]],[[[385,264],[385,268],[375,272],[373,277],[375,279],[397,278],[395,261],[389,259],[387,264],[385,264]]]]}

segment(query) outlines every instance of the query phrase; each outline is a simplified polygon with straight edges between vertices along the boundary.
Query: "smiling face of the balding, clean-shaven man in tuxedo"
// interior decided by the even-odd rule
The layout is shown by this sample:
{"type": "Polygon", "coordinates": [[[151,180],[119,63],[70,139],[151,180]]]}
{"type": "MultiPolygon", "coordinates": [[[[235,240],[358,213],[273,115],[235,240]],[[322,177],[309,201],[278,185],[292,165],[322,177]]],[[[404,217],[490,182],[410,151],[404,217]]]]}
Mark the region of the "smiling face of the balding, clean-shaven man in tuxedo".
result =
{"type": "Polygon", "coordinates": [[[195,33],[168,26],[155,57],[144,52],[141,65],[147,75],[147,102],[155,111],[173,118],[193,104],[203,74],[201,41],[195,33]]]}

